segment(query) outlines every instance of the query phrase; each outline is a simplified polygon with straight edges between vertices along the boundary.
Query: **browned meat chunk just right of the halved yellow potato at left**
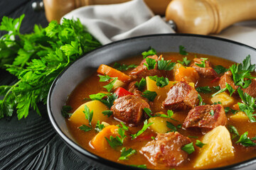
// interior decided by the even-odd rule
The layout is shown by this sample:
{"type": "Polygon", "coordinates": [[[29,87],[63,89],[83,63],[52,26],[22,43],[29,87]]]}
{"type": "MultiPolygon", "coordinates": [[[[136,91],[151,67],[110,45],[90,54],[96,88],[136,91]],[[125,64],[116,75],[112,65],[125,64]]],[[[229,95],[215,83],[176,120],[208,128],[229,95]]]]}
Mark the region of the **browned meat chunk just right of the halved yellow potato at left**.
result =
{"type": "Polygon", "coordinates": [[[117,98],[111,107],[111,111],[114,118],[137,125],[143,118],[144,108],[149,108],[149,103],[139,96],[127,95],[117,98]]]}

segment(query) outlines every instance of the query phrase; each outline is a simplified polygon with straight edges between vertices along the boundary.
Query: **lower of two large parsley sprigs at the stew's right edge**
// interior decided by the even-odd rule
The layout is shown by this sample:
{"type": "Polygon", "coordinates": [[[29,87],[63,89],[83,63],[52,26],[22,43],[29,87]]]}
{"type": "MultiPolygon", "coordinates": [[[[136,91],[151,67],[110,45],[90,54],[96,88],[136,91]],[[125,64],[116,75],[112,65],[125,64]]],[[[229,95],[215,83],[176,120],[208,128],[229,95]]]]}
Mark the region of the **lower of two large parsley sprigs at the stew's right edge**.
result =
{"type": "Polygon", "coordinates": [[[244,102],[244,103],[238,103],[240,110],[245,112],[247,117],[250,119],[251,123],[256,122],[256,119],[254,117],[256,114],[253,114],[256,109],[255,98],[253,98],[252,96],[250,96],[247,93],[243,93],[243,91],[240,89],[240,87],[238,87],[238,94],[239,94],[240,98],[242,99],[242,101],[244,102]]]}

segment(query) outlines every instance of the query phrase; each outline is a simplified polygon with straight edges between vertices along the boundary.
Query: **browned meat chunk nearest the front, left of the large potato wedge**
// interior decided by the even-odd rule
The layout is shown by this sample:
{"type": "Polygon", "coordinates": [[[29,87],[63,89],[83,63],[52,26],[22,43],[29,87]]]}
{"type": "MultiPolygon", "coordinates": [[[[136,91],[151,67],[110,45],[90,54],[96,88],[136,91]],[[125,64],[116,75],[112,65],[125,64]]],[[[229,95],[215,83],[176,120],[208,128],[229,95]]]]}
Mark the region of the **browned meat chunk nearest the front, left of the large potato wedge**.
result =
{"type": "Polygon", "coordinates": [[[140,152],[154,166],[167,169],[186,161],[188,153],[181,148],[189,143],[191,140],[178,132],[159,133],[156,139],[148,142],[140,152]]]}

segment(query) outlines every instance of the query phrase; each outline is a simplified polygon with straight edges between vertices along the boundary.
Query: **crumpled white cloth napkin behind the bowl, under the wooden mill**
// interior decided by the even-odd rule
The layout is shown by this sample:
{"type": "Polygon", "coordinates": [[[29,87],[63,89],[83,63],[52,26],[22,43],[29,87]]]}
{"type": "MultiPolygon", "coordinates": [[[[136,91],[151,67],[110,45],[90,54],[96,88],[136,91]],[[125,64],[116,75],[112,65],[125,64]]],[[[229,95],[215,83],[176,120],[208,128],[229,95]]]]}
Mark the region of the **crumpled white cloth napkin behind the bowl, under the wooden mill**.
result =
{"type": "MultiPolygon", "coordinates": [[[[67,13],[63,18],[79,18],[87,30],[103,45],[138,35],[175,33],[160,16],[154,16],[143,0],[84,6],[67,13]]],[[[235,24],[213,36],[256,47],[256,21],[235,24]]]]}

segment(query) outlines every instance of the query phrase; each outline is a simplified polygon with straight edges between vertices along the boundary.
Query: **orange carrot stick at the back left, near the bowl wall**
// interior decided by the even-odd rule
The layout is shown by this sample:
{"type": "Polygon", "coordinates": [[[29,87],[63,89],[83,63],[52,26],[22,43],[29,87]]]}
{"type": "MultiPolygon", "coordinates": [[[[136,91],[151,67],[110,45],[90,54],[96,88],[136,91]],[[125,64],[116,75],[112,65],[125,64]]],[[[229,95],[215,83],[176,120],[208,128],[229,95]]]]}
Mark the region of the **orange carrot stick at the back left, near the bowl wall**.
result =
{"type": "Polygon", "coordinates": [[[117,69],[114,69],[110,66],[107,66],[105,64],[101,64],[100,67],[97,69],[97,73],[99,74],[107,74],[110,77],[117,77],[121,81],[129,81],[131,77],[129,77],[127,74],[124,74],[123,72],[120,72],[117,69]]]}

